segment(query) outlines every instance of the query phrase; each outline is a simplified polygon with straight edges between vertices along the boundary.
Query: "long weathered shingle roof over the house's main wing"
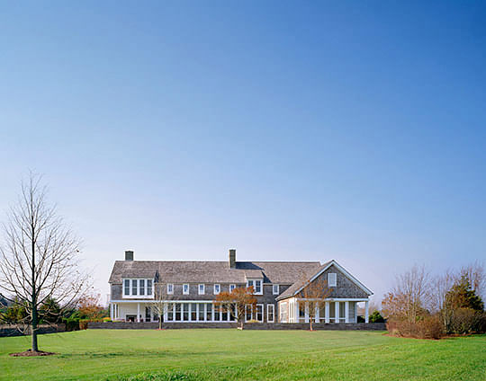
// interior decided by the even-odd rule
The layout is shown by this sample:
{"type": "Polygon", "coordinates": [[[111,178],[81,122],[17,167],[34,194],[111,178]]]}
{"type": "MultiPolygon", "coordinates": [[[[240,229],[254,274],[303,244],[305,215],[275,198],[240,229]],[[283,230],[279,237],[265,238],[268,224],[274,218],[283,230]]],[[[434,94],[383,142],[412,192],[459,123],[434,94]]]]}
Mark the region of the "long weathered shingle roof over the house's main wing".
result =
{"type": "Polygon", "coordinates": [[[123,278],[153,278],[169,283],[246,283],[247,278],[263,278],[264,283],[291,285],[302,272],[315,272],[319,261],[115,261],[110,283],[123,278]]]}

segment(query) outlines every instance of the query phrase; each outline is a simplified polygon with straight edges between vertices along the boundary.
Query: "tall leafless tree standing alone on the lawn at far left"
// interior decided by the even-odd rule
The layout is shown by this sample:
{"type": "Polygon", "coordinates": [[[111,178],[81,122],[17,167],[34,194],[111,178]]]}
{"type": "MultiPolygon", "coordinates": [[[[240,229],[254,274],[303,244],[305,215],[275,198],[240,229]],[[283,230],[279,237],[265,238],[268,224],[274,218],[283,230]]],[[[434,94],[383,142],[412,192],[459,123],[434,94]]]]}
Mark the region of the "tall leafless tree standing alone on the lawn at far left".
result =
{"type": "Polygon", "coordinates": [[[56,208],[48,205],[40,180],[31,173],[22,183],[18,203],[3,224],[0,247],[0,293],[27,309],[33,352],[39,351],[40,306],[48,299],[70,305],[87,286],[87,275],[76,261],[79,241],[57,216],[56,208]]]}

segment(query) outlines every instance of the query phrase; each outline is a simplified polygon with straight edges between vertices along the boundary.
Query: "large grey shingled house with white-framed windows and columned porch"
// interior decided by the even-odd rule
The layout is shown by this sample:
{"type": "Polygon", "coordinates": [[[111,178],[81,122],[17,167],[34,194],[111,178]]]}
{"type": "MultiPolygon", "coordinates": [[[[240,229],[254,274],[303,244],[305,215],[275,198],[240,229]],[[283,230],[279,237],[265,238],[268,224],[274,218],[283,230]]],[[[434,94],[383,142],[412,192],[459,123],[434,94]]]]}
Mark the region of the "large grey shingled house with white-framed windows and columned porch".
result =
{"type": "Polygon", "coordinates": [[[236,261],[233,249],[229,261],[134,261],[133,252],[125,252],[125,261],[115,261],[109,280],[111,317],[154,322],[154,306],[163,302],[164,322],[232,322],[233,316],[214,308],[213,300],[220,292],[253,286],[257,308],[248,308],[247,321],[308,323],[309,306],[301,290],[316,279],[325,279],[332,289],[316,309],[317,323],[356,323],[359,302],[365,302],[368,323],[373,293],[337,261],[236,261]]]}

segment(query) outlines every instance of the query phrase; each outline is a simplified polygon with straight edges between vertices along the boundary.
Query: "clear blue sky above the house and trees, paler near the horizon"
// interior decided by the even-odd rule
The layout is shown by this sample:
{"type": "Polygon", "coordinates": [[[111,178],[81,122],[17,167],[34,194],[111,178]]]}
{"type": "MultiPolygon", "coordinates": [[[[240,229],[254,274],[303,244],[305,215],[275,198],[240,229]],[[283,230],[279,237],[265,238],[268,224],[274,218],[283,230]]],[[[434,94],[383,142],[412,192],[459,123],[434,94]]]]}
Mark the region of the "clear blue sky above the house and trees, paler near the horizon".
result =
{"type": "Polygon", "coordinates": [[[483,2],[3,2],[0,210],[29,169],[94,286],[139,260],[486,258],[483,2]]]}

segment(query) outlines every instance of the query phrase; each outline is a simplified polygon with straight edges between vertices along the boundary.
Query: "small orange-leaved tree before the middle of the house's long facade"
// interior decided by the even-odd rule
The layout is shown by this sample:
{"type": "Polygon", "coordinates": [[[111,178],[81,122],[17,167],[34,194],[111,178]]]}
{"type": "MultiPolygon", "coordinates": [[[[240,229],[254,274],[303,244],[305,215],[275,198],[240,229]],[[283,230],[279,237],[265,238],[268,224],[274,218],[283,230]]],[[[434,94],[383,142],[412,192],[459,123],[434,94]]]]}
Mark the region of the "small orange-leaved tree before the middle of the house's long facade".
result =
{"type": "Polygon", "coordinates": [[[239,323],[239,329],[242,330],[247,307],[254,311],[257,306],[257,297],[253,292],[253,286],[248,288],[238,287],[231,292],[221,292],[214,300],[214,306],[220,308],[220,311],[226,308],[229,314],[239,323]]]}

